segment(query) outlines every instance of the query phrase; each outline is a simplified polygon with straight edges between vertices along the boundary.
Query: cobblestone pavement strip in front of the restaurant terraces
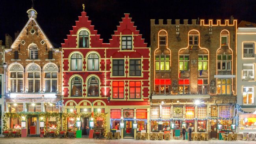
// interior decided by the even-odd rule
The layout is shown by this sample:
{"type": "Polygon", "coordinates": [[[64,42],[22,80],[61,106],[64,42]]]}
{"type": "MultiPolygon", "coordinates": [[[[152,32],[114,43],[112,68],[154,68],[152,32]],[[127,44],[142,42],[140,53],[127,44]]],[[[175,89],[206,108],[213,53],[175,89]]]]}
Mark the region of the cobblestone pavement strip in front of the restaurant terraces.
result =
{"type": "Polygon", "coordinates": [[[106,140],[106,139],[89,139],[89,138],[0,138],[0,144],[256,144],[256,141],[187,141],[187,140],[106,140]]]}

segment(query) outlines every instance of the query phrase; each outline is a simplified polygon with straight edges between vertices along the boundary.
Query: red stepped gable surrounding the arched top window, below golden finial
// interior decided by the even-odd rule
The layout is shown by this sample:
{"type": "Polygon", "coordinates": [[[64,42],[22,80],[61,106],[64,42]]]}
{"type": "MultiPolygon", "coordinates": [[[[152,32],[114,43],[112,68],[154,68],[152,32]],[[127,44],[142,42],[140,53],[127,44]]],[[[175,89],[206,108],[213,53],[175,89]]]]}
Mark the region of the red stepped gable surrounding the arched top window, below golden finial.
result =
{"type": "Polygon", "coordinates": [[[102,47],[103,39],[100,39],[100,35],[97,35],[97,30],[94,30],[94,26],[91,25],[91,20],[86,16],[86,12],[82,11],[81,16],[76,21],[76,26],[72,26],[73,30],[70,30],[70,35],[67,35],[67,39],[64,39],[64,43],[61,44],[63,48],[76,48],[77,47],[77,32],[81,28],[86,28],[90,32],[90,47],[100,48],[102,47]]]}

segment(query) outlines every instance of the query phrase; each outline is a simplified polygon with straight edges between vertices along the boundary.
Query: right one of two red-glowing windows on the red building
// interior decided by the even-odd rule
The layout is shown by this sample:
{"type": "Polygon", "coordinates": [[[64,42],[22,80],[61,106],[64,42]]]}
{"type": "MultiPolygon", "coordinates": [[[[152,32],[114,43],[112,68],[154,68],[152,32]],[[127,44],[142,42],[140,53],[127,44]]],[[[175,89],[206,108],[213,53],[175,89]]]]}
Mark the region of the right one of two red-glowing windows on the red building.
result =
{"type": "Polygon", "coordinates": [[[130,99],[140,99],[141,98],[141,82],[140,81],[130,81],[130,99]]]}

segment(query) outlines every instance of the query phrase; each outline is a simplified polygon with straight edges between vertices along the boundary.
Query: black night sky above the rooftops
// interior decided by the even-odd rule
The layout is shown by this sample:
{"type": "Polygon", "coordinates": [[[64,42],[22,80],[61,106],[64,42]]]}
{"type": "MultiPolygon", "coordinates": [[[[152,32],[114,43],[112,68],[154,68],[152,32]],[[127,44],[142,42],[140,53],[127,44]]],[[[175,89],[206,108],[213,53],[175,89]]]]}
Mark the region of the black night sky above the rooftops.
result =
{"type": "MultiPolygon", "coordinates": [[[[58,48],[75,20],[81,15],[82,4],[98,30],[109,42],[124,13],[130,13],[135,26],[150,44],[150,19],[235,19],[256,23],[256,0],[35,0],[37,21],[47,37],[58,48]]],[[[26,11],[31,0],[0,0],[0,40],[4,34],[14,37],[28,21],[26,11]]],[[[165,22],[165,21],[164,21],[165,22]]]]}

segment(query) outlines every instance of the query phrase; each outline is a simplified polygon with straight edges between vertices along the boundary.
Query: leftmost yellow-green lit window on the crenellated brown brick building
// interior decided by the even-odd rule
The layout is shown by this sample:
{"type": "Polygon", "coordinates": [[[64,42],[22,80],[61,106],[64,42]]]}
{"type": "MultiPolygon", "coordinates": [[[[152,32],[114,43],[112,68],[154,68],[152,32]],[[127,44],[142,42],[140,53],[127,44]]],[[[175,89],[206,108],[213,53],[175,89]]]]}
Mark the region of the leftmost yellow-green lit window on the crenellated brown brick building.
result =
{"type": "Polygon", "coordinates": [[[170,70],[170,55],[155,56],[156,70],[170,70]]]}

